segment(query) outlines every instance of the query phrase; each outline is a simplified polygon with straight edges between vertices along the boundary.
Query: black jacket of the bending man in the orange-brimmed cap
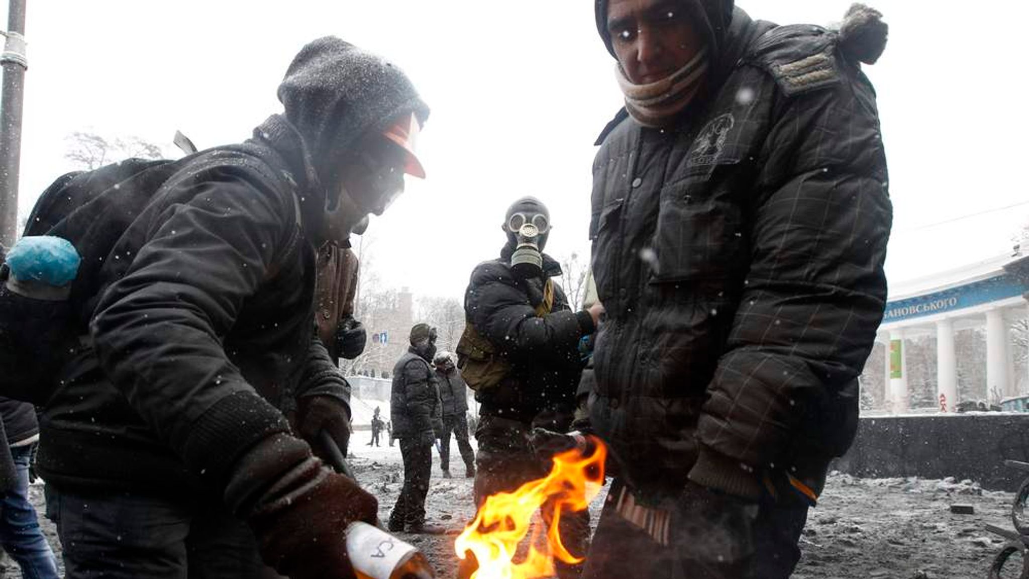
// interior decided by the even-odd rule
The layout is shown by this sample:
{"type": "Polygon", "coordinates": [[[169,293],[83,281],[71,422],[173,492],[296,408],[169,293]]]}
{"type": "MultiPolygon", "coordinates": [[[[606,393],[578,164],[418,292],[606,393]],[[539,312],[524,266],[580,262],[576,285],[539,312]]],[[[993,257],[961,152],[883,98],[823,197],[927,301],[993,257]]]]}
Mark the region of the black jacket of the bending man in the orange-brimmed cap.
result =
{"type": "Polygon", "coordinates": [[[79,210],[98,238],[123,234],[99,258],[80,249],[81,346],[40,419],[48,482],[218,493],[245,451],[288,432],[288,399],[349,403],[314,333],[300,200],[322,196],[301,148],[276,115],[244,144],[144,167],[79,210]]]}

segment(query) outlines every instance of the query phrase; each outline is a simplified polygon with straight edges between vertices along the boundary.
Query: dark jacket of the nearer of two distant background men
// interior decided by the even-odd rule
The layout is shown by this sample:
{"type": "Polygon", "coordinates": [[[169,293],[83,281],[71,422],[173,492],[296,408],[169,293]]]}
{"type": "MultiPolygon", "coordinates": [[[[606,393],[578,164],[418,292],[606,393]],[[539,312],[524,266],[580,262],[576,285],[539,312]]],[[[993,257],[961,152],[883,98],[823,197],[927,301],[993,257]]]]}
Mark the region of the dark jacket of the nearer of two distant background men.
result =
{"type": "Polygon", "coordinates": [[[424,437],[431,441],[442,432],[436,374],[414,347],[409,347],[393,366],[390,418],[395,438],[424,437]]]}

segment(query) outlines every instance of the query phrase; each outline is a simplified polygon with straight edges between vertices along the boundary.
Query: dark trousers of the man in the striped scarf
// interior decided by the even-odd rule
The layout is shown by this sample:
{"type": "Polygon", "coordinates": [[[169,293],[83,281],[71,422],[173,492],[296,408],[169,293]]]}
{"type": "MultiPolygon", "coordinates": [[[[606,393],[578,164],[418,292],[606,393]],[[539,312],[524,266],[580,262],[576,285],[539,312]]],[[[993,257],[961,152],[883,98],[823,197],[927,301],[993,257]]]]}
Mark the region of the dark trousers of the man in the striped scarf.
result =
{"type": "Polygon", "coordinates": [[[807,506],[744,503],[693,487],[662,505],[671,512],[662,544],[618,512],[620,490],[615,481],[582,579],[785,579],[801,558],[807,506]]]}

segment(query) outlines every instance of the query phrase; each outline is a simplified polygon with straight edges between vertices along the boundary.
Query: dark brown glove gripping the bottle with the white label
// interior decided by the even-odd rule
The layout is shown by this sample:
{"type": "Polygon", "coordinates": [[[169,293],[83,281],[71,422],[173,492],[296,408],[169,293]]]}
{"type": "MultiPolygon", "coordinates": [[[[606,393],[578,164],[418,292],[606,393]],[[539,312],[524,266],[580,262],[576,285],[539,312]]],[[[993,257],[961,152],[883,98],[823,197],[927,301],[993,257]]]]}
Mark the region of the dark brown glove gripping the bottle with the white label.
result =
{"type": "MultiPolygon", "coordinates": [[[[347,477],[317,463],[315,468],[313,484],[258,505],[247,522],[264,563],[279,573],[292,579],[355,578],[344,532],[355,520],[375,524],[378,502],[347,477]]],[[[303,480],[310,473],[290,475],[303,480]]],[[[276,486],[296,485],[287,480],[276,486]]]]}

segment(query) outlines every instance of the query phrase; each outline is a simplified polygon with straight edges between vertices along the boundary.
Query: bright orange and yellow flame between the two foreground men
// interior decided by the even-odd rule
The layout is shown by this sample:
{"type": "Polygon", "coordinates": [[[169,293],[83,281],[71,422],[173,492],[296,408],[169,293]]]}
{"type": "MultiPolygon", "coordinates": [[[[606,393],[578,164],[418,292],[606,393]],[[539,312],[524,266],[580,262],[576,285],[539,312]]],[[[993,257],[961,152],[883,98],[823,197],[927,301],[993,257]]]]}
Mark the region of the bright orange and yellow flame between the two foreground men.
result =
{"type": "Polygon", "coordinates": [[[589,455],[578,448],[564,451],[554,456],[554,467],[546,477],[529,481],[513,492],[498,492],[486,499],[454,543],[458,557],[464,559],[466,551],[475,557],[477,570],[469,579],[549,577],[554,575],[554,557],[572,565],[582,561],[565,548],[558,524],[563,512],[587,509],[604,483],[607,449],[596,437],[589,437],[589,441],[588,448],[594,449],[589,455]],[[539,541],[539,530],[534,531],[528,555],[516,563],[518,546],[541,508],[543,520],[549,521],[546,541],[539,541]]]}

